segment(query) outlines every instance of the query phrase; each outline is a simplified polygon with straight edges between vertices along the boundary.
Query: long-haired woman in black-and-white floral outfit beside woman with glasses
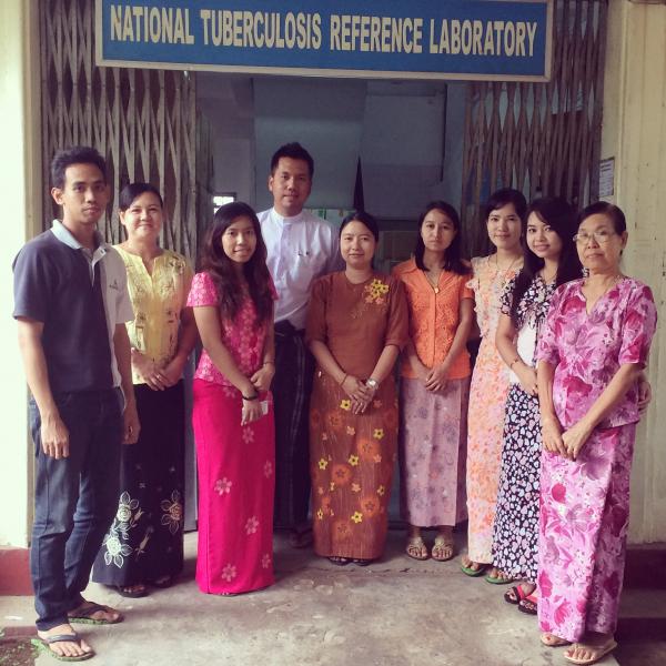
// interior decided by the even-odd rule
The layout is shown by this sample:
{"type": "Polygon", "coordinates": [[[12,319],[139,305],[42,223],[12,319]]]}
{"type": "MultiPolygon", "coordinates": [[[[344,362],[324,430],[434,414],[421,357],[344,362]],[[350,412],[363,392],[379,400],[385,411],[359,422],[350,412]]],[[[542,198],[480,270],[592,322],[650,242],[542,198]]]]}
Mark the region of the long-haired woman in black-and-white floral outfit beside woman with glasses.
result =
{"type": "Polygon", "coordinates": [[[539,199],[523,230],[523,270],[502,296],[495,343],[511,370],[502,447],[502,471],[493,531],[493,565],[523,583],[504,598],[536,612],[541,468],[541,421],[534,354],[539,327],[558,285],[578,278],[575,211],[563,200],[539,199]]]}

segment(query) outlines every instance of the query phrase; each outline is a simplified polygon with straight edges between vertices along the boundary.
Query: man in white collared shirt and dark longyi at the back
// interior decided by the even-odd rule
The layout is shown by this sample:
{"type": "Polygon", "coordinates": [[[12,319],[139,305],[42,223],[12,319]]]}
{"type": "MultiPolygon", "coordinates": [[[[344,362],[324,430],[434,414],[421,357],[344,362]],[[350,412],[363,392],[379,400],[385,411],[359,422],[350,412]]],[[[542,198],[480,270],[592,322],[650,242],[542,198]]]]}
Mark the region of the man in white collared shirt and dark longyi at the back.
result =
{"type": "Polygon", "coordinates": [[[312,543],[309,411],[314,362],[303,342],[310,286],[341,268],[339,239],[325,220],[304,211],[314,162],[300,143],[287,143],[271,160],[273,208],[259,213],[275,303],[275,526],[291,529],[295,547],[312,543]]]}

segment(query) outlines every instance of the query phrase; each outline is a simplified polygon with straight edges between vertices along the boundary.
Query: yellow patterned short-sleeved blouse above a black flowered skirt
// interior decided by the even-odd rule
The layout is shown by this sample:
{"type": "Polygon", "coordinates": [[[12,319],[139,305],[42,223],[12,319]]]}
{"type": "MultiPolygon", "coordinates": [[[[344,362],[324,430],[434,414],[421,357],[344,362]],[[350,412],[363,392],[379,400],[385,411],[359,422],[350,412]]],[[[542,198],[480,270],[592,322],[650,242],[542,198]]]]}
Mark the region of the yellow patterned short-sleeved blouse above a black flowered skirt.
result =
{"type": "MultiPolygon", "coordinates": [[[[130,343],[159,365],[169,363],[178,349],[180,314],[188,302],[192,269],[184,256],[164,250],[155,258],[151,275],[140,256],[120,245],[115,250],[128,271],[134,310],[134,321],[127,324],[130,343]]],[[[133,372],[132,381],[143,383],[133,372]]]]}

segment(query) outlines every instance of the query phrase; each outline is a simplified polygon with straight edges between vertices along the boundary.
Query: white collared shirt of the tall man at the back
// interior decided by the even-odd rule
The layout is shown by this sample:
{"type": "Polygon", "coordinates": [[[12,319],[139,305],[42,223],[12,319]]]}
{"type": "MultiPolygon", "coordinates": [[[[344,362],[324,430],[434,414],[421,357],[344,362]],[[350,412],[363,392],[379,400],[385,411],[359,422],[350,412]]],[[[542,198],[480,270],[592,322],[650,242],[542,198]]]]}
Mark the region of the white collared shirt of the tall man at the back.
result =
{"type": "Polygon", "coordinates": [[[289,320],[304,329],[313,280],[342,266],[337,231],[309,211],[283,218],[272,208],[258,216],[279,295],[275,322],[289,320]]]}

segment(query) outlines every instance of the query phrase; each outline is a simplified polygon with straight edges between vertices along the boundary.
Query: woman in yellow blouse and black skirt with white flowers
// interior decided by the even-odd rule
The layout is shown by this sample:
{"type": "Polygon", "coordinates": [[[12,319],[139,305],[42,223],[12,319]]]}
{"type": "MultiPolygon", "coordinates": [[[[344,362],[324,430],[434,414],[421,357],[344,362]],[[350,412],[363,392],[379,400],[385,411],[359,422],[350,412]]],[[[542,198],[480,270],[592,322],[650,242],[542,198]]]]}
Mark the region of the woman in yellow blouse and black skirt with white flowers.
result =
{"type": "Polygon", "coordinates": [[[192,269],[159,245],[163,202],[148,183],[120,193],[128,240],[115,249],[128,271],[134,321],[132,375],[141,435],[122,450],[115,518],[97,556],[92,579],[123,596],[169,586],[183,564],[184,393],[182,374],[196,340],[185,307],[192,269]]]}

